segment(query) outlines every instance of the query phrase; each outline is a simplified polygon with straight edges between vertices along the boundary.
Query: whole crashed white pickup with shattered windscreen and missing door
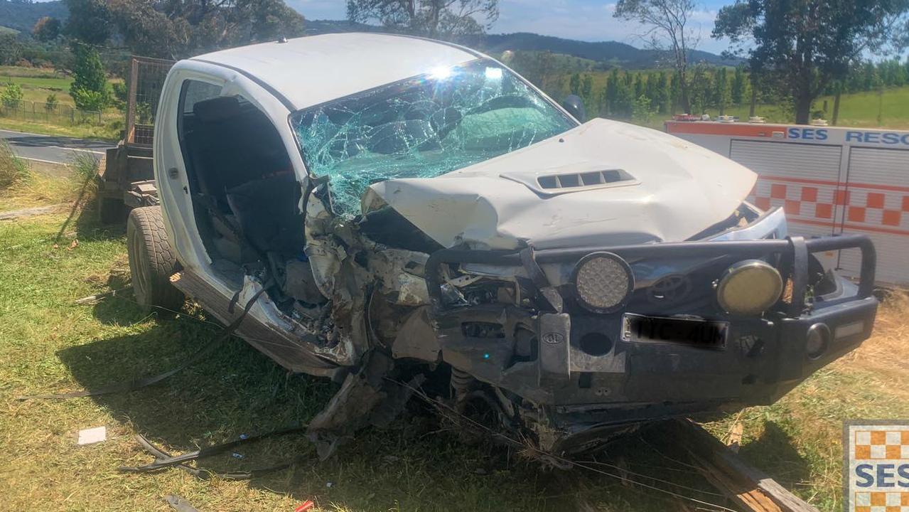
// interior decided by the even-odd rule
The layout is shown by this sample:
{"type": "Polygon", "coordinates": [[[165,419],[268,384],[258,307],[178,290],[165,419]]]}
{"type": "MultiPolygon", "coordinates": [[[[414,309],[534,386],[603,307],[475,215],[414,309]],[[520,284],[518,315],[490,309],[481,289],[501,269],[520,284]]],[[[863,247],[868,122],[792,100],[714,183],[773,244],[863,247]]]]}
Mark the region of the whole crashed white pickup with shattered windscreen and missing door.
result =
{"type": "Polygon", "coordinates": [[[135,293],[341,383],[320,454],[415,388],[558,454],[769,404],[870,336],[874,246],[787,237],[754,173],[470,49],[318,35],[177,63],[135,293]],[[823,253],[862,252],[858,283],[823,253]],[[817,254],[819,257],[815,257],[817,254]],[[239,305],[237,307],[237,305],[239,305]]]}

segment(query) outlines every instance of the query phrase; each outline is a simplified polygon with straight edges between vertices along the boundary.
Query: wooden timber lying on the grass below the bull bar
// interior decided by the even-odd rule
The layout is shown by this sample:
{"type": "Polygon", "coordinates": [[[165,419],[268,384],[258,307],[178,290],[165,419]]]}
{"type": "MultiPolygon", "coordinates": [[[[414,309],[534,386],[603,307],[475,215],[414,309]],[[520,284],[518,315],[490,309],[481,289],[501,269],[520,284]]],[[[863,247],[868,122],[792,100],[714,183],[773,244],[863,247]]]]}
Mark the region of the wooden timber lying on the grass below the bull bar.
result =
{"type": "Polygon", "coordinates": [[[788,489],[741,457],[690,420],[673,422],[670,429],[717,489],[746,510],[754,512],[818,512],[788,489]]]}

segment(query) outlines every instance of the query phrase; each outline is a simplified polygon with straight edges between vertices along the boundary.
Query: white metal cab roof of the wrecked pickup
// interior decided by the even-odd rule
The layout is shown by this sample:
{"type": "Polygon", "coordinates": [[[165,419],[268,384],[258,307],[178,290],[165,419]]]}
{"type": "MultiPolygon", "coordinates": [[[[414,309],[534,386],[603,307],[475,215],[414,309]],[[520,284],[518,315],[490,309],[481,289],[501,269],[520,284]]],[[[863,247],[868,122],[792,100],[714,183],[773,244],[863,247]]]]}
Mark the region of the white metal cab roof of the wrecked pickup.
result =
{"type": "Polygon", "coordinates": [[[478,56],[460,46],[418,37],[347,33],[241,46],[190,60],[243,73],[300,109],[478,56]]]}

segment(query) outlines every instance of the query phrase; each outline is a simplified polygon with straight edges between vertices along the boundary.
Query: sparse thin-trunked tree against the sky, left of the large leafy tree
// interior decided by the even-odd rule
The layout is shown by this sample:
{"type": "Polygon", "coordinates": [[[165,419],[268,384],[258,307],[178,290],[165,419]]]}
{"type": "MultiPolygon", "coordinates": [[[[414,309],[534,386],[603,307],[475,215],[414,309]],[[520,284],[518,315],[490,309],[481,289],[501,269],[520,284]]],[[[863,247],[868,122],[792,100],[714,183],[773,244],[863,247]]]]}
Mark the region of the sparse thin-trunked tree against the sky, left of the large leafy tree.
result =
{"type": "Polygon", "coordinates": [[[694,13],[694,0],[619,0],[614,16],[644,25],[644,36],[654,49],[672,55],[678,77],[679,101],[687,112],[688,53],[696,46],[696,37],[688,25],[694,13]]]}

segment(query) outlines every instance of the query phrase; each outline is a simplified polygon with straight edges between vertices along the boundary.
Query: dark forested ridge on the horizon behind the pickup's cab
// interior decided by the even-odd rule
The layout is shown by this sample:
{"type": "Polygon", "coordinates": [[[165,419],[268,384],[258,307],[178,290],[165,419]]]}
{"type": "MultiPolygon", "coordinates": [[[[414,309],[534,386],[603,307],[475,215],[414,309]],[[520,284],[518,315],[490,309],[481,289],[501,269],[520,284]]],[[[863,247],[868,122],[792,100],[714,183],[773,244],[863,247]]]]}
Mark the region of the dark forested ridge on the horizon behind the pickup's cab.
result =
{"type": "MultiPolygon", "coordinates": [[[[306,34],[332,34],[337,32],[381,32],[383,28],[375,25],[351,23],[345,20],[306,20],[306,34]]],[[[552,52],[559,55],[570,55],[603,65],[618,65],[628,68],[666,67],[663,55],[654,50],[643,50],[632,45],[616,41],[589,43],[574,39],[563,39],[552,35],[530,34],[489,34],[466,42],[467,45],[484,50],[492,55],[499,55],[505,50],[552,52]]],[[[692,51],[689,55],[692,62],[704,61],[712,65],[735,65],[738,61],[725,60],[720,55],[709,52],[692,51]]]]}

